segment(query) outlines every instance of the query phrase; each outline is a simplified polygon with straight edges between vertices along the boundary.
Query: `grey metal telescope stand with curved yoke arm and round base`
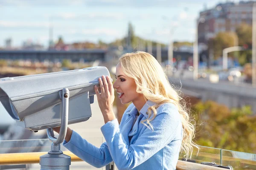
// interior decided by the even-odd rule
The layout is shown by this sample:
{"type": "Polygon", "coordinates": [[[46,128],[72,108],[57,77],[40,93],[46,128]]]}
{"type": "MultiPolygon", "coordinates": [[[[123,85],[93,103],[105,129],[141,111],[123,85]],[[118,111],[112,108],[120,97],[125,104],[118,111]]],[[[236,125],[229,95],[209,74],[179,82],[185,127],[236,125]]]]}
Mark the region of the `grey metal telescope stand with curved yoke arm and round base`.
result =
{"type": "Polygon", "coordinates": [[[47,136],[52,141],[51,150],[40,156],[39,164],[40,170],[69,170],[71,164],[71,157],[63,154],[61,151],[61,143],[64,141],[67,133],[68,123],[68,103],[69,90],[62,89],[61,97],[61,128],[58,139],[55,138],[52,128],[47,129],[47,136]]]}

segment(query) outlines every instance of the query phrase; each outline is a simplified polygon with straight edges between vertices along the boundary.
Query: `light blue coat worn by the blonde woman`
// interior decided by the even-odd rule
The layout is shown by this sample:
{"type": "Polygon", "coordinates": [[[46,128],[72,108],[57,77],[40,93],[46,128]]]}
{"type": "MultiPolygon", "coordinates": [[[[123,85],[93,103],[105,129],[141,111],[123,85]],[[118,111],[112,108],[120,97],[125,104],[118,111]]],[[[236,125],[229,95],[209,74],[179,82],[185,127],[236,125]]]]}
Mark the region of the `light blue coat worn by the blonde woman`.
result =
{"type": "MultiPolygon", "coordinates": [[[[182,141],[182,124],[175,105],[166,103],[157,108],[151,121],[154,130],[139,123],[148,118],[146,113],[153,102],[147,101],[131,130],[137,114],[133,104],[117,119],[101,127],[104,142],[100,148],[90,144],[73,130],[69,142],[63,146],[94,167],[103,167],[114,161],[119,170],[175,170],[182,141]],[[133,136],[129,142],[128,136],[133,136]]],[[[153,114],[152,114],[153,115],[153,114]]]]}

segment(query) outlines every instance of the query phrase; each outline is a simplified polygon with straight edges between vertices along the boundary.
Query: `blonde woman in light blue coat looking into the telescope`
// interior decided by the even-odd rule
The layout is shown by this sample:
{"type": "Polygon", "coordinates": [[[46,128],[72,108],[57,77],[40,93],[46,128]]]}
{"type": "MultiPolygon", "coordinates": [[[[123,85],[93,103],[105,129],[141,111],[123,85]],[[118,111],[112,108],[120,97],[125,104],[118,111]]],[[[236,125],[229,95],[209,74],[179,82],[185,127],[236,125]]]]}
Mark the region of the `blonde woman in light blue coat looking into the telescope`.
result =
{"type": "Polygon", "coordinates": [[[192,147],[197,147],[180,96],[150,54],[124,54],[116,66],[116,82],[112,85],[110,77],[102,76],[99,84],[101,94],[94,89],[106,142],[95,147],[68,128],[63,144],[87,163],[103,167],[114,161],[119,170],[175,170],[180,149],[188,158],[192,147]],[[114,88],[123,104],[132,102],[120,125],[113,113],[114,88]]]}

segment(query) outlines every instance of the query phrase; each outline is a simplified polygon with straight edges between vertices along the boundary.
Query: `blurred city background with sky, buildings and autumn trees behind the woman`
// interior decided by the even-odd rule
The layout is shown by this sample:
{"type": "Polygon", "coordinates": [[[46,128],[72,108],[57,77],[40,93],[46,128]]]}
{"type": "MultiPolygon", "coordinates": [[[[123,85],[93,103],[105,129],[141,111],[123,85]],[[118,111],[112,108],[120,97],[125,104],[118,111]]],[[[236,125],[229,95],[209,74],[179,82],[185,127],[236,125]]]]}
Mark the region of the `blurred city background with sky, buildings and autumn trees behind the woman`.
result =
{"type": "MultiPolygon", "coordinates": [[[[131,51],[152,54],[181,90],[199,145],[256,153],[256,1],[0,0],[1,78],[100,65],[115,81],[131,51]]],[[[119,121],[126,107],[116,97],[119,121]]],[[[99,146],[96,99],[92,109],[72,128],[99,146]]],[[[47,138],[17,127],[3,106],[0,116],[0,141],[47,138]]]]}

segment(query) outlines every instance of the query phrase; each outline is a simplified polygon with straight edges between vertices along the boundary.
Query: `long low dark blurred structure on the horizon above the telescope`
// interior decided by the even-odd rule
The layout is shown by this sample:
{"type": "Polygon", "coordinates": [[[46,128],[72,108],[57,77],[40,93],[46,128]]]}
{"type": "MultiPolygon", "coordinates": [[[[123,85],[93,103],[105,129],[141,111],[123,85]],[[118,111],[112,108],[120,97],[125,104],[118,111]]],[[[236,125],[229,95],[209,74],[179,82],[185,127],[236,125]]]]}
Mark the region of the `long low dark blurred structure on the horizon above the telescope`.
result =
{"type": "Polygon", "coordinates": [[[35,50],[3,50],[0,51],[0,59],[10,60],[30,60],[44,62],[61,62],[63,59],[69,59],[72,62],[84,62],[95,60],[105,61],[107,51],[102,49],[70,50],[70,51],[35,51],[35,50]]]}

